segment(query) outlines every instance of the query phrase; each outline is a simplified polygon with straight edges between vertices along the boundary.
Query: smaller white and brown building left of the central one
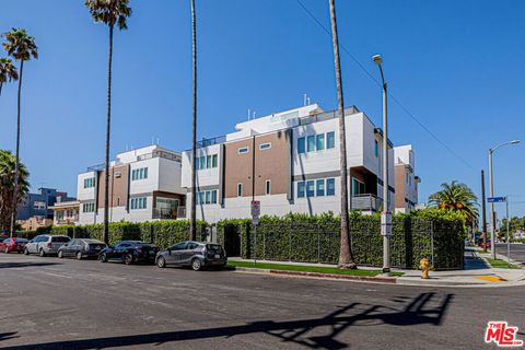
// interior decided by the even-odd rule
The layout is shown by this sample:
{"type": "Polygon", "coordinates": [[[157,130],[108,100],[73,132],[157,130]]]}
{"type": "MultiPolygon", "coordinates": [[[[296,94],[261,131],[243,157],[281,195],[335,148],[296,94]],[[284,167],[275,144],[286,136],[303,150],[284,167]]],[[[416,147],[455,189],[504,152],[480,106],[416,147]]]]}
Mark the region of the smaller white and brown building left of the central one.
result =
{"type": "MultiPolygon", "coordinates": [[[[79,224],[104,222],[104,164],[78,176],[79,224]]],[[[119,153],[109,167],[109,221],[177,219],[184,213],[180,154],[159,145],[119,153]]]]}

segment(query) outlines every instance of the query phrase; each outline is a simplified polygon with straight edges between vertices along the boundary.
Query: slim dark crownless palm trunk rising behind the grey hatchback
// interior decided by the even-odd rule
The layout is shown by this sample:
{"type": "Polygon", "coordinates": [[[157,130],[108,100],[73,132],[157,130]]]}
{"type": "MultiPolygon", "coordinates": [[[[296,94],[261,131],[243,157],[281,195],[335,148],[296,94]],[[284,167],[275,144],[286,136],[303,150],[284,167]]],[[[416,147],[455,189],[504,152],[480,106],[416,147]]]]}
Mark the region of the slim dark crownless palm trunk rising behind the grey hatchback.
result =
{"type": "Polygon", "coordinates": [[[196,159],[197,159],[197,31],[195,22],[195,0],[191,0],[191,56],[192,56],[192,86],[194,86],[194,110],[192,110],[192,148],[191,148],[191,209],[190,209],[190,222],[189,222],[189,240],[195,241],[197,238],[197,203],[196,203],[196,159]]]}

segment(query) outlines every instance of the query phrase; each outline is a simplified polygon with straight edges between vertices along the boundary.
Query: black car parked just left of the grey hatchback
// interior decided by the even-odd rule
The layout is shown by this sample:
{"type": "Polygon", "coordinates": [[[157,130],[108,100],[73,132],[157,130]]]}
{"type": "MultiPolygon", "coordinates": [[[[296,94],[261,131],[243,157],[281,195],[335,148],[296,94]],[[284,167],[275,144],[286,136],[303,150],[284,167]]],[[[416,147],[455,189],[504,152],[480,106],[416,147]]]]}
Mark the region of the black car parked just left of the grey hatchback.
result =
{"type": "Polygon", "coordinates": [[[142,241],[121,241],[115,246],[103,249],[98,256],[102,262],[120,260],[126,265],[133,262],[154,262],[159,247],[142,241]]]}

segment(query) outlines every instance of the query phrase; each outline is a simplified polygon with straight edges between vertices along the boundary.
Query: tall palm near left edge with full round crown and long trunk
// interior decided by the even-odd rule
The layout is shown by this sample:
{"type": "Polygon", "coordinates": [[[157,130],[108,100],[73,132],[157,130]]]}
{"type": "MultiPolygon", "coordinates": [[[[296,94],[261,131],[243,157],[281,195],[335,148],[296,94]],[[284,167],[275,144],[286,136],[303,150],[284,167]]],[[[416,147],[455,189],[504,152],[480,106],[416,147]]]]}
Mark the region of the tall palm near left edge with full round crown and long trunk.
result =
{"type": "Polygon", "coordinates": [[[18,97],[18,113],[16,113],[16,149],[15,149],[15,166],[14,166],[14,184],[13,184],[13,200],[12,200],[12,215],[11,215],[11,237],[14,235],[16,223],[16,207],[19,198],[19,163],[20,163],[20,100],[22,95],[22,74],[24,72],[24,62],[32,58],[38,59],[38,47],[35,44],[35,38],[25,32],[23,28],[12,28],[11,32],[3,34],[7,43],[3,48],[9,56],[20,61],[20,79],[19,79],[19,97],[18,97]]]}

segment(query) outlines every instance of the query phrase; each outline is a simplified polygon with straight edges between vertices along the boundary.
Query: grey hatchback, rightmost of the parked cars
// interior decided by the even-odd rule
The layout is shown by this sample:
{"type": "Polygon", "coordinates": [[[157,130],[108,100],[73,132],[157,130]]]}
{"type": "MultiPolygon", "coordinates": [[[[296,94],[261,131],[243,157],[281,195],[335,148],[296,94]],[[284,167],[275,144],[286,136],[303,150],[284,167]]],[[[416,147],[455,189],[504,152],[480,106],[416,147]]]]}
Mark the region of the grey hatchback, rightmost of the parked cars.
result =
{"type": "Polygon", "coordinates": [[[208,266],[223,267],[228,264],[228,257],[220,244],[185,241],[159,252],[155,264],[160,268],[167,265],[191,266],[198,271],[208,266]]]}

